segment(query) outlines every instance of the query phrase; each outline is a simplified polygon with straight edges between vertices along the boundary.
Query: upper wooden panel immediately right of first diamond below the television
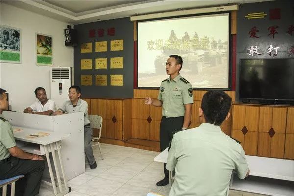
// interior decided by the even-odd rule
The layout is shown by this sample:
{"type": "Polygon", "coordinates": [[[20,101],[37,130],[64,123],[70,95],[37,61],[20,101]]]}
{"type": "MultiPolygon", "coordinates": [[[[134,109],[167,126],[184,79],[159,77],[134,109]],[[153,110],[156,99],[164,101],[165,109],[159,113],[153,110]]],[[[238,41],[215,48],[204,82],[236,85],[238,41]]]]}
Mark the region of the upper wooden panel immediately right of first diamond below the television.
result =
{"type": "Polygon", "coordinates": [[[246,107],[245,126],[248,131],[258,132],[259,107],[246,107]]]}

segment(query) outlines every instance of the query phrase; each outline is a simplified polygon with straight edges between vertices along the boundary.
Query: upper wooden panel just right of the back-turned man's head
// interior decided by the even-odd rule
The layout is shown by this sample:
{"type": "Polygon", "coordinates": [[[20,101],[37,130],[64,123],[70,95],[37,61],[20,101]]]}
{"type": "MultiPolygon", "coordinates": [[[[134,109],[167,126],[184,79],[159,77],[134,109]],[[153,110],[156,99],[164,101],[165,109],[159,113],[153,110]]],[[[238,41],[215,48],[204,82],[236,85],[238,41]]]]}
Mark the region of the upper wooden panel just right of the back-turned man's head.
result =
{"type": "Polygon", "coordinates": [[[232,129],[241,130],[245,126],[246,107],[240,105],[233,106],[233,123],[232,129]]]}

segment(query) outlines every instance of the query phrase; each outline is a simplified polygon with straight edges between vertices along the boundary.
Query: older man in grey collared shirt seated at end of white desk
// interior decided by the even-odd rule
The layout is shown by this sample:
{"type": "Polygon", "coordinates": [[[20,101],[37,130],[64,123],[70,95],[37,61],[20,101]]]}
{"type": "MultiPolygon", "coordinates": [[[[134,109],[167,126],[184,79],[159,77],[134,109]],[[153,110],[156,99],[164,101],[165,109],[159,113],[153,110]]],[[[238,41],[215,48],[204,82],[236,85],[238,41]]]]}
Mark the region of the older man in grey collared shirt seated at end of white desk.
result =
{"type": "Polygon", "coordinates": [[[65,101],[61,106],[61,111],[58,109],[54,112],[54,115],[60,115],[64,112],[73,113],[73,112],[83,112],[84,113],[84,135],[85,135],[85,154],[90,165],[91,169],[95,169],[97,167],[93,150],[91,146],[91,140],[93,137],[93,129],[90,127],[90,121],[88,116],[88,103],[79,97],[81,94],[81,88],[79,86],[71,86],[69,88],[69,101],[65,101]]]}

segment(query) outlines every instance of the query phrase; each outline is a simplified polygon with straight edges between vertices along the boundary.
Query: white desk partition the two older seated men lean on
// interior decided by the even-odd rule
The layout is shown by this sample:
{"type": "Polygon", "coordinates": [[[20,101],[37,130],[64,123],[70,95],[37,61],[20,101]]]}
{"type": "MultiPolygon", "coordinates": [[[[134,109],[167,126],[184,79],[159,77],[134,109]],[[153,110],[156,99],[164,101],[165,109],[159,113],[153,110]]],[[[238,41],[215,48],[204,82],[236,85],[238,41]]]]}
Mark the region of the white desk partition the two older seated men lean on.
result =
{"type": "MultiPolygon", "coordinates": [[[[13,126],[70,134],[70,137],[61,141],[66,179],[70,180],[85,172],[84,115],[82,112],[45,116],[4,111],[3,116],[13,126]]],[[[49,177],[48,169],[45,169],[43,176],[49,177]]]]}

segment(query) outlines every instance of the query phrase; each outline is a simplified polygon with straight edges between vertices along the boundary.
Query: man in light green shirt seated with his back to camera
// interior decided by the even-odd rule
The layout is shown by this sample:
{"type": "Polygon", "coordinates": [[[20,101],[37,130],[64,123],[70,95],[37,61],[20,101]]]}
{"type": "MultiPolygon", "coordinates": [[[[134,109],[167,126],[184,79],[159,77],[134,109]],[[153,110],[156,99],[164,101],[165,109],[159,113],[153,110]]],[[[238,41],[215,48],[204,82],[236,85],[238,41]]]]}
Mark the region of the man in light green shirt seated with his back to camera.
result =
{"type": "Polygon", "coordinates": [[[175,170],[171,196],[228,196],[232,172],[249,175],[242,146],[221,131],[230,116],[231,100],[221,90],[204,94],[201,125],[174,134],[166,168],[175,170]]]}

